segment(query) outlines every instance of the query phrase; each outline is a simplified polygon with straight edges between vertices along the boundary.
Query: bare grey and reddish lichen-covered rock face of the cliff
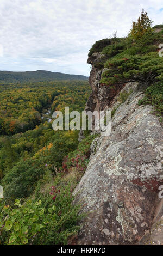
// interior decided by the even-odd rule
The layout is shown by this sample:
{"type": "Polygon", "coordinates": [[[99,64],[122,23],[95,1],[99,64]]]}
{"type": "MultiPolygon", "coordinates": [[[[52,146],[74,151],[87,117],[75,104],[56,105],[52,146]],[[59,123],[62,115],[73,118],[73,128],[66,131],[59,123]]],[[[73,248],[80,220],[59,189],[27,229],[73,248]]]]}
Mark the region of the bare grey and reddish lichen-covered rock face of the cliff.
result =
{"type": "Polygon", "coordinates": [[[144,85],[137,82],[112,89],[100,83],[103,58],[93,53],[86,111],[114,110],[111,135],[91,145],[90,162],[74,194],[82,202],[79,245],[163,244],[163,129],[152,106],[138,105],[144,85]],[[120,101],[120,93],[128,95],[120,101]],[[149,231],[152,231],[149,232],[149,231]]]}

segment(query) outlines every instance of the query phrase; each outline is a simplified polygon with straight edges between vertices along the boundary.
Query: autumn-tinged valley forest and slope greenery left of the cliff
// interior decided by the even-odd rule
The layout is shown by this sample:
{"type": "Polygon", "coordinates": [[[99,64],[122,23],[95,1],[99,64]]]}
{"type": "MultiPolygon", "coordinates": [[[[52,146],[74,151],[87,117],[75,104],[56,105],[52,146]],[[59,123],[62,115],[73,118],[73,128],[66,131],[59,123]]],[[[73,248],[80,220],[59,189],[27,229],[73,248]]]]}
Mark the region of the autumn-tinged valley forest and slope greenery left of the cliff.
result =
{"type": "MultiPolygon", "coordinates": [[[[53,120],[49,122],[41,117],[47,110],[51,111],[49,118],[52,118],[54,110],[64,113],[65,106],[69,106],[70,111],[82,112],[90,87],[85,81],[61,81],[1,85],[0,89],[2,203],[10,205],[1,206],[4,206],[4,211],[10,207],[15,212],[15,200],[21,205],[20,211],[15,214],[10,210],[12,213],[8,221],[12,223],[12,228],[3,230],[3,240],[8,244],[26,244],[28,239],[31,242],[30,233],[23,232],[27,228],[26,222],[29,223],[29,214],[22,220],[21,211],[25,208],[28,212],[35,208],[36,219],[32,220],[35,231],[30,230],[31,234],[37,234],[34,243],[66,243],[67,237],[76,233],[80,217],[80,206],[72,206],[73,187],[84,173],[89,161],[90,143],[96,136],[86,132],[86,138],[79,143],[78,131],[54,132],[53,120]],[[52,214],[54,206],[55,220],[52,214]],[[47,211],[47,214],[40,215],[40,211],[47,211]],[[46,221],[49,219],[49,224],[43,224],[45,218],[46,221]],[[52,234],[49,233],[45,241],[43,234],[55,223],[58,223],[57,228],[52,228],[52,234]],[[40,232],[41,228],[43,232],[40,232]]],[[[2,216],[0,214],[0,226],[2,216]]]]}

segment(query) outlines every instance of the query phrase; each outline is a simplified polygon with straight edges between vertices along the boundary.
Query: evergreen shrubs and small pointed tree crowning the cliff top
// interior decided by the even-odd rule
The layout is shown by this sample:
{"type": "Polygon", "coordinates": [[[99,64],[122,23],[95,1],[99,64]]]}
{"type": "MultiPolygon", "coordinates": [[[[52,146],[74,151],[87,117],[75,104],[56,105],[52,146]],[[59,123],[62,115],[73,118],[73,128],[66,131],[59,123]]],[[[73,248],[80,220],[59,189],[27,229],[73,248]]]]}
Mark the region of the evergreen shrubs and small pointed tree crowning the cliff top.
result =
{"type": "Polygon", "coordinates": [[[152,21],[142,10],[137,22],[133,22],[127,38],[112,38],[106,47],[102,47],[101,40],[98,49],[96,42],[96,47],[93,45],[90,53],[95,52],[96,48],[96,52],[103,54],[100,65],[98,62],[95,63],[97,69],[105,68],[101,86],[112,88],[118,84],[135,81],[146,84],[149,88],[140,103],[152,104],[155,106],[155,111],[162,114],[163,58],[158,52],[159,45],[163,43],[163,29],[154,33],[154,28],[163,28],[163,25],[153,28],[151,26],[152,21]]]}

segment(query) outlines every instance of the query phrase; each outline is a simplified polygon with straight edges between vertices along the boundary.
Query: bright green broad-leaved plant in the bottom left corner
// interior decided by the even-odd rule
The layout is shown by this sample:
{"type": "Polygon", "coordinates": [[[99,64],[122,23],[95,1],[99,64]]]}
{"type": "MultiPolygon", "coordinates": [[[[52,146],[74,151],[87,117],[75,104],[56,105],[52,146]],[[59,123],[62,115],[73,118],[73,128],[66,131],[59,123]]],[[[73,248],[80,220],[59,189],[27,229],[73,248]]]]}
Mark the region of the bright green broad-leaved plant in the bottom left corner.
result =
{"type": "Polygon", "coordinates": [[[7,245],[25,245],[32,242],[51,218],[51,214],[45,214],[45,209],[41,207],[41,200],[33,202],[30,199],[24,200],[24,203],[21,203],[21,199],[16,199],[14,206],[4,205],[0,216],[2,234],[8,237],[7,245]]]}

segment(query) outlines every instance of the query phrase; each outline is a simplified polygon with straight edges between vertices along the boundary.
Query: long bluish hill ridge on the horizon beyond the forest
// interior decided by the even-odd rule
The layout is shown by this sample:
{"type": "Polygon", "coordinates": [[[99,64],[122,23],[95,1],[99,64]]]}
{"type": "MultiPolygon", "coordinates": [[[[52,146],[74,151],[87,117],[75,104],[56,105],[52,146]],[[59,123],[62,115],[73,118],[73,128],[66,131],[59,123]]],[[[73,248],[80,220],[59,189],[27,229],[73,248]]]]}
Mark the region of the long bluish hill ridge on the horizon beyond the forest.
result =
{"type": "Polygon", "coordinates": [[[0,71],[0,82],[52,81],[52,80],[87,80],[82,75],[68,75],[46,70],[12,72],[0,71]]]}

